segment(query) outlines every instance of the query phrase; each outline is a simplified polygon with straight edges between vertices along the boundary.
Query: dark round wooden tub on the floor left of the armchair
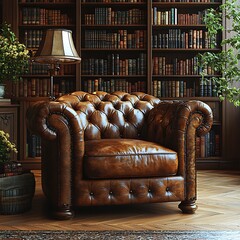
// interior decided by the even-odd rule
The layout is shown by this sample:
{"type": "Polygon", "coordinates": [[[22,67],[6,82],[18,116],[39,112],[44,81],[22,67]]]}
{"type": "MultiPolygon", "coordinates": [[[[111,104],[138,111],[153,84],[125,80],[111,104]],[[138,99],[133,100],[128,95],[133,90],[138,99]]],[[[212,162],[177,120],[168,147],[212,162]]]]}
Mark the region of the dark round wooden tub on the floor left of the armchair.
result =
{"type": "Polygon", "coordinates": [[[0,214],[18,214],[32,207],[35,192],[33,173],[0,178],[0,214]]]}

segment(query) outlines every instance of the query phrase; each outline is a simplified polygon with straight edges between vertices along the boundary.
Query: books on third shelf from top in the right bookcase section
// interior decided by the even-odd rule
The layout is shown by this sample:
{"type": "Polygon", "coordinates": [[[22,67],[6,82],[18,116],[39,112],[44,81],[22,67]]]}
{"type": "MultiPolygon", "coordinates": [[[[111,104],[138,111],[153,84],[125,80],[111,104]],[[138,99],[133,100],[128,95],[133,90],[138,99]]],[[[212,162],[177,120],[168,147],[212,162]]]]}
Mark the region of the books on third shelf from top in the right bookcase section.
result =
{"type": "MultiPolygon", "coordinates": [[[[171,62],[166,57],[153,57],[153,75],[199,75],[202,70],[198,66],[198,57],[186,59],[172,58],[171,62]]],[[[206,69],[206,74],[214,75],[216,72],[210,67],[206,69]]]]}

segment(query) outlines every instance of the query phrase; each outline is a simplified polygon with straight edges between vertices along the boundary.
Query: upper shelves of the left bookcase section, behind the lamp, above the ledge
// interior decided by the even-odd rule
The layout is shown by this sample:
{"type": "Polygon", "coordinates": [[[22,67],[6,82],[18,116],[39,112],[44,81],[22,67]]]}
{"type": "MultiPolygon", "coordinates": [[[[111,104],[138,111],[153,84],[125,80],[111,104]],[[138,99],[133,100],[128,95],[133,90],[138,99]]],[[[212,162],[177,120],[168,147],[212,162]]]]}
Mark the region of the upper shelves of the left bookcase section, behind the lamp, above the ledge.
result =
{"type": "MultiPolygon", "coordinates": [[[[19,0],[18,35],[30,55],[34,56],[43,33],[48,28],[66,28],[76,32],[75,0],[19,0]],[[74,14],[73,14],[74,13],[74,14]]],[[[29,74],[15,85],[14,97],[48,97],[49,66],[31,62],[29,74]]],[[[76,70],[74,65],[62,65],[54,77],[54,95],[56,97],[76,88],[76,70]]]]}

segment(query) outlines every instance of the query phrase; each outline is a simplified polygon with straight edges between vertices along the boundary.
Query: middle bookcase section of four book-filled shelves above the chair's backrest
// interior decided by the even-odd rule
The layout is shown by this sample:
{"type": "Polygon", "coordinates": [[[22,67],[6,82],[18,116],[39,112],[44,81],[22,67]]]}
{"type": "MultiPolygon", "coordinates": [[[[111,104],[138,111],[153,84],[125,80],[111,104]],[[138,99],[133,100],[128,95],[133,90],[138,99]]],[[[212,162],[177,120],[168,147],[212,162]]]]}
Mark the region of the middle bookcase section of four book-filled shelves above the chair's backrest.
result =
{"type": "Polygon", "coordinates": [[[146,1],[82,1],[81,86],[147,92],[146,1]]]}

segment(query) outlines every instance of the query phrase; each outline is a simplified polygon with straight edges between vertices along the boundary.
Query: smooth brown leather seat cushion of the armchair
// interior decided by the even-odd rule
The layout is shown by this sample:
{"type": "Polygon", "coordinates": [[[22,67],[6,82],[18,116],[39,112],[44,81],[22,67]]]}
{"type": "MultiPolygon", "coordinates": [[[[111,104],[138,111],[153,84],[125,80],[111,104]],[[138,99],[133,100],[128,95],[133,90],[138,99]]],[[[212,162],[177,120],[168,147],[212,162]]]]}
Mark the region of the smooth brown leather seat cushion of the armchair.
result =
{"type": "Polygon", "coordinates": [[[84,174],[89,179],[166,177],[177,174],[177,153],[136,139],[85,141],[84,174]]]}

